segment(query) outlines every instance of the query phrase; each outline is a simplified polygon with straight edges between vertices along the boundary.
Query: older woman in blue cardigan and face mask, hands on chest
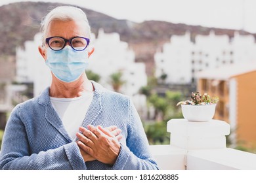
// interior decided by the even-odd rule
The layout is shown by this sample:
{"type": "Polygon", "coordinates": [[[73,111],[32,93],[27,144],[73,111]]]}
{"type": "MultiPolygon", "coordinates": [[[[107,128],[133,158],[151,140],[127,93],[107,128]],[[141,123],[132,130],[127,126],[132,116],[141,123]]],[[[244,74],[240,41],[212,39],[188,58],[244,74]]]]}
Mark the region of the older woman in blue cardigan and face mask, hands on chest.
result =
{"type": "Polygon", "coordinates": [[[76,7],[54,8],[41,30],[39,52],[52,83],[12,110],[1,169],[158,169],[129,97],[85,75],[93,53],[86,14],[76,7]]]}

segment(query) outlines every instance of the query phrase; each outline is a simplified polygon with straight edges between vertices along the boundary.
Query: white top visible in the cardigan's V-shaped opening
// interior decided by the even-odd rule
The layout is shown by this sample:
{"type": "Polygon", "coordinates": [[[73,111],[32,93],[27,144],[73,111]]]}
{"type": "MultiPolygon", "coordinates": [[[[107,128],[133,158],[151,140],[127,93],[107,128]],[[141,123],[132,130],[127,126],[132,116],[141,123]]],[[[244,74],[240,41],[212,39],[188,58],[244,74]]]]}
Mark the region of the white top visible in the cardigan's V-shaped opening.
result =
{"type": "Polygon", "coordinates": [[[75,98],[50,97],[53,108],[58,113],[62,124],[70,137],[75,141],[79,127],[83,124],[85,114],[93,100],[93,92],[85,92],[75,98]]]}

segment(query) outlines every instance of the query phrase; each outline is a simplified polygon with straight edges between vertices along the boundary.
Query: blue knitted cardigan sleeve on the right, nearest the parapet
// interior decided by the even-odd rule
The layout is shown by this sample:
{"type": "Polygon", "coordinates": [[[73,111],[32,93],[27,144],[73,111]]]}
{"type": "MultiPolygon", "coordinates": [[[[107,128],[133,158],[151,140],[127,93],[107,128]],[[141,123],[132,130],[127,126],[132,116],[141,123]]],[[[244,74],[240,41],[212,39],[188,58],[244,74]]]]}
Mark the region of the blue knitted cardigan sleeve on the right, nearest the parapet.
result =
{"type": "Polygon", "coordinates": [[[150,154],[148,139],[135,106],[129,100],[127,144],[121,144],[119,156],[111,169],[158,169],[150,154]]]}

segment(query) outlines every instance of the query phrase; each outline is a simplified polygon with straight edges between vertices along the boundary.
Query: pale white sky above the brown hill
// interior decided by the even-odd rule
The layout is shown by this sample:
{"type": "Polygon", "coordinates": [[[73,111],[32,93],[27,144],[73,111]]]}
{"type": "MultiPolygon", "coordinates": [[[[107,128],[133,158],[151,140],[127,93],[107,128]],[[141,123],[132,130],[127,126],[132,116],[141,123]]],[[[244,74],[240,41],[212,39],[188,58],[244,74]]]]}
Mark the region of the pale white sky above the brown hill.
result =
{"type": "MultiPolygon", "coordinates": [[[[36,0],[30,0],[36,1],[36,0]]],[[[256,33],[255,0],[41,0],[77,5],[133,22],[161,20],[175,24],[244,29],[256,33]]],[[[0,6],[19,2],[1,0],[0,6]]]]}

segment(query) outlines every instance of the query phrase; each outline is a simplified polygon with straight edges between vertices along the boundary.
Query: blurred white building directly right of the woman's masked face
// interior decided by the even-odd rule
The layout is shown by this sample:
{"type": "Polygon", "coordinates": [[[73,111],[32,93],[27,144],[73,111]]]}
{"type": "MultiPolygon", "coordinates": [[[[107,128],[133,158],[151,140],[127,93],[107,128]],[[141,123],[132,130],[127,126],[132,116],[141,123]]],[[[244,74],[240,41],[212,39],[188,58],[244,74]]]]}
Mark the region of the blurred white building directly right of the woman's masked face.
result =
{"type": "Polygon", "coordinates": [[[127,42],[120,41],[117,33],[98,31],[98,37],[92,39],[95,52],[89,58],[89,70],[101,76],[100,83],[112,90],[110,75],[121,71],[126,81],[121,93],[133,96],[147,84],[144,63],[135,63],[135,53],[127,42]]]}

